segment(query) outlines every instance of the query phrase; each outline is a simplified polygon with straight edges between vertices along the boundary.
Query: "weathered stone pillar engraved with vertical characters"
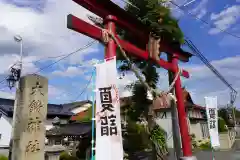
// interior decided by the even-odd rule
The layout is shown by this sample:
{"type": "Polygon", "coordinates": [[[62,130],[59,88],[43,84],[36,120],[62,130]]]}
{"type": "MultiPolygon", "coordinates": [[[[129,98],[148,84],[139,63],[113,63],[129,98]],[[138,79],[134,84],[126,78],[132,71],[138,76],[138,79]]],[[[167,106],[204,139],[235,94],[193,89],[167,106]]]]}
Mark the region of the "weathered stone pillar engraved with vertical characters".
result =
{"type": "Polygon", "coordinates": [[[13,128],[12,160],[44,160],[48,80],[39,75],[20,79],[13,128]]]}

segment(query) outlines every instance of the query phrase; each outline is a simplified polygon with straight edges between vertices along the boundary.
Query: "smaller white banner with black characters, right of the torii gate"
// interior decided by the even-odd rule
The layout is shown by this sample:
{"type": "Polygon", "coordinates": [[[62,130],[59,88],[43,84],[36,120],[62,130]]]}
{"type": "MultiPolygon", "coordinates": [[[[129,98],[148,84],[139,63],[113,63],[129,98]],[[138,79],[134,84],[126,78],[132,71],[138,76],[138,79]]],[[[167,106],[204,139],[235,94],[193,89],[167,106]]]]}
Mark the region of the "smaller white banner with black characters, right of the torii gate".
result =
{"type": "Polygon", "coordinates": [[[205,97],[205,103],[211,145],[219,147],[217,97],[205,97]]]}

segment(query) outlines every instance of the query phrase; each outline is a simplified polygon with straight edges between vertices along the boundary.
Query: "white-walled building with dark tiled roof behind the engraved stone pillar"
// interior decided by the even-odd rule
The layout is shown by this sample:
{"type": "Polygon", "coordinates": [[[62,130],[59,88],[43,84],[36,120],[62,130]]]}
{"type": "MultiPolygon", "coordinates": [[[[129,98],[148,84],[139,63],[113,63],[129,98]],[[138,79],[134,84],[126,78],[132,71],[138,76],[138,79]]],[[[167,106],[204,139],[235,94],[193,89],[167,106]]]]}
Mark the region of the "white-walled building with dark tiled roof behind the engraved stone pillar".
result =
{"type": "MultiPolygon", "coordinates": [[[[79,111],[91,107],[89,100],[68,103],[68,104],[48,104],[46,130],[53,127],[54,118],[58,117],[61,124],[67,124],[69,119],[79,111]]],[[[12,133],[14,100],[0,98],[0,148],[8,148],[12,133]]]]}

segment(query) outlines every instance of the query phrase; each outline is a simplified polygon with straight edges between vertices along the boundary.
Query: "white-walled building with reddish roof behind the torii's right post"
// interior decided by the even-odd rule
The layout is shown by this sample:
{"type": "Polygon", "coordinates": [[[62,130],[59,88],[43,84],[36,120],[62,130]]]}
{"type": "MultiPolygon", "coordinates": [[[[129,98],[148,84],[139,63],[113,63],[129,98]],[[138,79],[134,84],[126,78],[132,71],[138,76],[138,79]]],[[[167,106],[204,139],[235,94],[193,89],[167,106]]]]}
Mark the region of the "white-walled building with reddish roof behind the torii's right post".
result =
{"type": "MultiPolygon", "coordinates": [[[[188,129],[190,134],[196,136],[196,140],[203,140],[209,137],[207,117],[205,107],[196,105],[189,92],[183,88],[183,97],[187,114],[188,129]]],[[[151,101],[151,98],[149,98],[151,101]]],[[[121,106],[127,106],[131,104],[131,97],[121,98],[121,106]]],[[[167,143],[169,148],[173,148],[173,132],[172,132],[172,113],[171,108],[156,108],[156,123],[159,124],[167,133],[167,143]]],[[[177,118],[177,117],[175,117],[177,118]]],[[[122,112],[122,120],[126,119],[122,112]]],[[[180,132],[179,132],[180,134],[180,132]]]]}

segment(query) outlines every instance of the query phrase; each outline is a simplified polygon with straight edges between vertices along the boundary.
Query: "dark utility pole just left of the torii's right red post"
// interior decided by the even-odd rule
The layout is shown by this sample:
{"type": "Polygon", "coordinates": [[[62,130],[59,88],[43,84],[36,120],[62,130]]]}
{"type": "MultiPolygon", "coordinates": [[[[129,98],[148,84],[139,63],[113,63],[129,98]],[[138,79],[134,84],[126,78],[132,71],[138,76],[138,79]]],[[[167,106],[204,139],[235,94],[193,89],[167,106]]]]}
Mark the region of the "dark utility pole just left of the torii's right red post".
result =
{"type": "MultiPolygon", "coordinates": [[[[172,62],[172,55],[168,55],[168,62],[172,62]]],[[[168,79],[169,85],[174,80],[174,73],[168,71],[168,79]]],[[[171,90],[171,93],[175,95],[175,89],[171,90]]],[[[171,115],[172,115],[172,135],[173,135],[173,146],[174,146],[174,153],[176,159],[179,160],[182,157],[181,153],[181,144],[180,144],[180,132],[179,132],[179,125],[178,125],[178,113],[177,113],[177,106],[175,100],[171,100],[171,115]]]]}

